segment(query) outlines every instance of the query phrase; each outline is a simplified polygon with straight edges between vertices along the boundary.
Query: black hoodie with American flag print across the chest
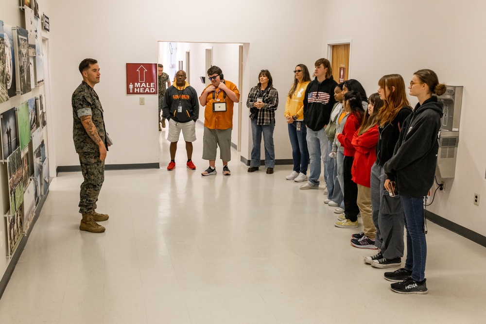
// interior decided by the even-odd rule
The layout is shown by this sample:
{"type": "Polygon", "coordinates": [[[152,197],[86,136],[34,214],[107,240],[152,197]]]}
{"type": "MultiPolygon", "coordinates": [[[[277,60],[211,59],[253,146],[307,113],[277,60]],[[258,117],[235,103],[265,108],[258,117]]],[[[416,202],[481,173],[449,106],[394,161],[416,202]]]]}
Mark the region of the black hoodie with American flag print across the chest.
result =
{"type": "Polygon", "coordinates": [[[332,75],[323,82],[318,82],[316,77],[307,85],[304,96],[304,121],[313,131],[324,129],[328,124],[332,107],[336,103],[336,85],[332,75]]]}

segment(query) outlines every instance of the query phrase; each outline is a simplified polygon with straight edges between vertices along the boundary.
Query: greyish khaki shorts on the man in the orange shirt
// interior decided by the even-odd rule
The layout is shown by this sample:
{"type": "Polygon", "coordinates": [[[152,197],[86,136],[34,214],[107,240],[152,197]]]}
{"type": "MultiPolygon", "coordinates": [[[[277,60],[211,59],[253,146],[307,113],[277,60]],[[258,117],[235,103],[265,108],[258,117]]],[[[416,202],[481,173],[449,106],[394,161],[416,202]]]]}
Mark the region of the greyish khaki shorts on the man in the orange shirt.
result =
{"type": "Polygon", "coordinates": [[[216,149],[219,146],[220,158],[231,161],[231,131],[228,129],[209,129],[204,127],[203,159],[216,160],[216,149]]]}

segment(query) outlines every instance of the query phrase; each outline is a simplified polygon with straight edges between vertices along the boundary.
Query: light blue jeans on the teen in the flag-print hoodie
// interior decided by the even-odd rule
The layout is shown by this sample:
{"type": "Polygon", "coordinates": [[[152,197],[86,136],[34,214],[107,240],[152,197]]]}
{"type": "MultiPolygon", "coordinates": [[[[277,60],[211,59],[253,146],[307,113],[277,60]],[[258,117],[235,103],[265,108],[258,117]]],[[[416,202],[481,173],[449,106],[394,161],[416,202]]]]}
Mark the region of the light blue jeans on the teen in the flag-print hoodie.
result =
{"type": "Polygon", "coordinates": [[[319,177],[321,176],[321,159],[324,162],[323,154],[328,152],[328,136],[324,133],[324,128],[316,131],[307,129],[307,148],[311,157],[311,174],[309,183],[319,186],[319,177]],[[322,153],[322,154],[321,154],[322,153]]]}

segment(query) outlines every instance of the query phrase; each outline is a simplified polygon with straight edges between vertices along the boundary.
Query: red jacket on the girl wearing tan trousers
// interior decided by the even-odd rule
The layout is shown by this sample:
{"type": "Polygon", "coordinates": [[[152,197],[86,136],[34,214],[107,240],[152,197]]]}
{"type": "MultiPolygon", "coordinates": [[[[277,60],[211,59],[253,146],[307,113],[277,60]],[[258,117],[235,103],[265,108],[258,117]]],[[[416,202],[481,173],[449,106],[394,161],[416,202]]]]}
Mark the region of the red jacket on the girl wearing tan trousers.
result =
{"type": "Polygon", "coordinates": [[[378,143],[378,125],[358,136],[354,133],[352,144],[356,149],[351,168],[352,179],[358,185],[370,187],[371,167],[376,161],[375,147],[378,143]]]}

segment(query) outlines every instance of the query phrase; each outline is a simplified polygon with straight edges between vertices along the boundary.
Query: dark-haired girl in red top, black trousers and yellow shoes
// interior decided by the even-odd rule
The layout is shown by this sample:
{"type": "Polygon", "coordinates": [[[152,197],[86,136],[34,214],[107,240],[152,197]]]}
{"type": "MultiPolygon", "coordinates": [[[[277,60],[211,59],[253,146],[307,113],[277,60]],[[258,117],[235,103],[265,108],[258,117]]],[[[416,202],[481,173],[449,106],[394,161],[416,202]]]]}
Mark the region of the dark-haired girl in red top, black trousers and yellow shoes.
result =
{"type": "Polygon", "coordinates": [[[341,228],[358,227],[358,213],[360,212],[356,200],[358,198],[358,187],[353,182],[351,168],[354,160],[354,149],[351,141],[354,133],[361,125],[363,119],[363,99],[356,91],[349,91],[344,95],[343,108],[349,112],[346,123],[344,124],[343,133],[336,133],[336,137],[344,147],[343,163],[343,182],[344,182],[344,214],[338,217],[339,221],[334,225],[341,228]]]}

